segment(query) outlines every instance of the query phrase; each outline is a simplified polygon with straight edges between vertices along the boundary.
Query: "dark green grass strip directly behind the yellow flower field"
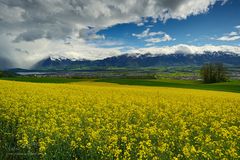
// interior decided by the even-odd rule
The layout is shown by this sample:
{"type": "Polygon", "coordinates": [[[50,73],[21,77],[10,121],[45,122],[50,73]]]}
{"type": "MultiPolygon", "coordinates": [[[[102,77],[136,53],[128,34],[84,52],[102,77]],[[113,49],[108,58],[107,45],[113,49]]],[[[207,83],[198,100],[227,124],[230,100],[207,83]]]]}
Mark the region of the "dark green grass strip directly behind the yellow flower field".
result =
{"type": "Polygon", "coordinates": [[[15,77],[15,78],[1,78],[3,80],[34,82],[34,83],[73,83],[73,82],[105,82],[120,85],[139,85],[139,86],[158,86],[158,87],[173,87],[173,88],[187,88],[200,90],[215,90],[225,92],[240,93],[240,81],[229,81],[224,83],[203,84],[201,81],[193,80],[171,80],[171,79],[97,79],[84,80],[76,78],[58,78],[58,77],[15,77]]]}

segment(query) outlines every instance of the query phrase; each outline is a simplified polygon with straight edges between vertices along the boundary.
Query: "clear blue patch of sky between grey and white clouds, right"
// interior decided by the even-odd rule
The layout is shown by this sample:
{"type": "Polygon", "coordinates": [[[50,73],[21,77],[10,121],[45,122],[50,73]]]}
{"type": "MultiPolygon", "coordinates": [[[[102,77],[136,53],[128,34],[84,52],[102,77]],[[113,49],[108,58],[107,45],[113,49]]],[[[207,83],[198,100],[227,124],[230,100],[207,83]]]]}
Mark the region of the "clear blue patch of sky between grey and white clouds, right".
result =
{"type": "MultiPolygon", "coordinates": [[[[228,1],[224,5],[217,2],[204,14],[190,16],[184,20],[169,19],[166,22],[158,20],[154,22],[152,18],[146,18],[144,25],[137,23],[119,24],[98,32],[104,35],[105,39],[97,42],[103,47],[117,47],[120,45],[145,47],[146,38],[138,39],[132,34],[140,34],[146,29],[150,32],[165,32],[173,40],[154,43],[153,46],[189,44],[189,45],[240,45],[240,38],[236,40],[218,40],[227,36],[231,32],[239,32],[236,26],[240,25],[240,1],[228,1]],[[116,42],[116,45],[105,45],[103,41],[116,42]],[[102,43],[101,43],[102,42],[102,43]]],[[[238,33],[239,35],[239,33],[238,33]]],[[[161,35],[162,36],[162,35],[161,35]]],[[[159,38],[161,36],[154,36],[159,38]]],[[[114,43],[113,43],[114,44],[114,43]]]]}

